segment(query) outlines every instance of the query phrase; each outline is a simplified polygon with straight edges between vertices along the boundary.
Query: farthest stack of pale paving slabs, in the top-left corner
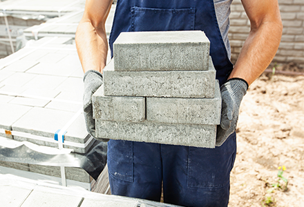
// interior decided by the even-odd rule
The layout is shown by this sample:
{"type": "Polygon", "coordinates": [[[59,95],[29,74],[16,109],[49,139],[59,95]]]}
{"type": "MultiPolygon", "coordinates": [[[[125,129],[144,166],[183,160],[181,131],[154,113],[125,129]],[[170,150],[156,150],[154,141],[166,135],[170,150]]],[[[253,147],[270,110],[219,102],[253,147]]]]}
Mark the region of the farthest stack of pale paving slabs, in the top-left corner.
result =
{"type": "MultiPolygon", "coordinates": [[[[8,41],[7,27],[4,17],[8,19],[12,43],[15,48],[15,39],[21,35],[19,30],[40,25],[48,19],[61,17],[64,14],[75,11],[84,11],[85,0],[9,0],[0,2],[0,38],[7,41],[7,44],[0,44],[0,57],[12,54],[8,41]]],[[[66,26],[65,26],[66,27],[66,26]]],[[[70,29],[66,27],[67,29],[70,29]]]]}

